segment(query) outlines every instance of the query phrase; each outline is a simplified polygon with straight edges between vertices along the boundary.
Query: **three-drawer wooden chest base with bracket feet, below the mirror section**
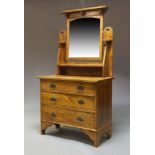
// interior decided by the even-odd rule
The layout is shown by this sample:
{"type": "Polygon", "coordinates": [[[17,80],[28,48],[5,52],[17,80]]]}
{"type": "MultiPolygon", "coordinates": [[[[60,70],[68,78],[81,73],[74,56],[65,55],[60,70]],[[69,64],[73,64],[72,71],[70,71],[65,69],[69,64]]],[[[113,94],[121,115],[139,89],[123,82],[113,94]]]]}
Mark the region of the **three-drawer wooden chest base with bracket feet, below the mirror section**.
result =
{"type": "Polygon", "coordinates": [[[41,133],[51,125],[76,127],[98,146],[111,136],[112,78],[42,76],[41,133]]]}

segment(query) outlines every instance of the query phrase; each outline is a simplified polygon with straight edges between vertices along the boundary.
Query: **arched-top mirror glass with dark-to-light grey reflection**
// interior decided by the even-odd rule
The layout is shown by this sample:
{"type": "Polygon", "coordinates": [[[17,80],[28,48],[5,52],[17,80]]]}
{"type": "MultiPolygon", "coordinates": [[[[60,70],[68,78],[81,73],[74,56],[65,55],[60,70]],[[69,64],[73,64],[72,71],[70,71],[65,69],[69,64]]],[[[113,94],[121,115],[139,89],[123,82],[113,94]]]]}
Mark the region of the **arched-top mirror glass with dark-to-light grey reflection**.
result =
{"type": "Polygon", "coordinates": [[[70,22],[69,58],[100,56],[100,19],[81,18],[70,22]]]}

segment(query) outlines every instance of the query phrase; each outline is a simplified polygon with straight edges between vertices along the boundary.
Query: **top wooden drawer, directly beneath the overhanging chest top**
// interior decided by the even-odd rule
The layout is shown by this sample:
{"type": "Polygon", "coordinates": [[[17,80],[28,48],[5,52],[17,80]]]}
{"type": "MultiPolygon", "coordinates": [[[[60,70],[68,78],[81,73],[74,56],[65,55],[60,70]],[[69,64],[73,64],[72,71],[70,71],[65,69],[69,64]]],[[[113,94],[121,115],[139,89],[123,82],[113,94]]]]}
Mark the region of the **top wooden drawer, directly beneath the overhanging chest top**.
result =
{"type": "Polygon", "coordinates": [[[41,91],[95,96],[95,85],[90,83],[41,80],[41,91]]]}

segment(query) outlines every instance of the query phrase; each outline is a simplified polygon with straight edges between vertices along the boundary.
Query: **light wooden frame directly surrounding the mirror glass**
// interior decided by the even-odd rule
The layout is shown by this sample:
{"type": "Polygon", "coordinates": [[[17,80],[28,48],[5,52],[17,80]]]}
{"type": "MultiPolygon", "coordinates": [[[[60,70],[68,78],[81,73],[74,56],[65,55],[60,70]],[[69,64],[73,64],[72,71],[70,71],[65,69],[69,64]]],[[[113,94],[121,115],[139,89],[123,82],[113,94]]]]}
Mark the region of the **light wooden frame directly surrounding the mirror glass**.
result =
{"type": "Polygon", "coordinates": [[[80,18],[73,18],[73,19],[67,19],[67,42],[66,42],[66,60],[67,61],[74,61],[74,60],[84,60],[84,61],[102,61],[103,59],[103,16],[84,16],[84,17],[80,17],[80,18]],[[100,49],[100,53],[99,53],[99,57],[69,57],[69,39],[70,39],[70,22],[77,20],[77,19],[81,19],[81,18],[97,18],[100,19],[100,42],[99,42],[99,49],[100,49]]]}

